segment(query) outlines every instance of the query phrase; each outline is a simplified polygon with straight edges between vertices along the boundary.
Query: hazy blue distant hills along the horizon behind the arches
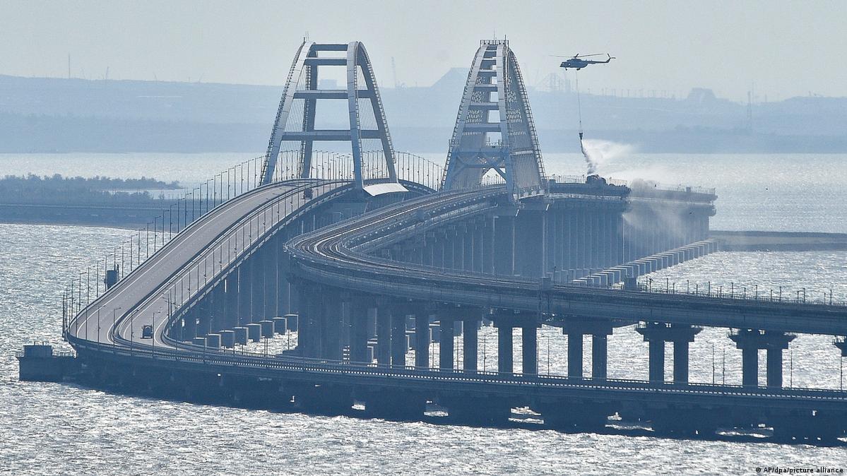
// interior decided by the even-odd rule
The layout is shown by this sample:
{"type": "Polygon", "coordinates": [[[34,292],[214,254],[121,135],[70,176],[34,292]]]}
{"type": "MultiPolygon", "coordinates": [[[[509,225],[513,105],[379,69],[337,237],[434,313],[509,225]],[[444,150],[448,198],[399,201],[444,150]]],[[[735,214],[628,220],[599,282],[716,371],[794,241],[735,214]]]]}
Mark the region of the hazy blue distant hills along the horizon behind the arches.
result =
{"type": "MultiPolygon", "coordinates": [[[[446,151],[468,70],[428,87],[382,88],[399,150],[446,151]]],[[[281,86],[0,75],[0,152],[254,152],[281,86]]],[[[576,95],[530,89],[545,152],[577,151],[576,95]]],[[[588,136],[641,152],[847,152],[847,98],[794,97],[750,108],[695,88],[687,97],[584,94],[588,136]]],[[[326,126],[343,127],[344,118],[326,126]]]]}

